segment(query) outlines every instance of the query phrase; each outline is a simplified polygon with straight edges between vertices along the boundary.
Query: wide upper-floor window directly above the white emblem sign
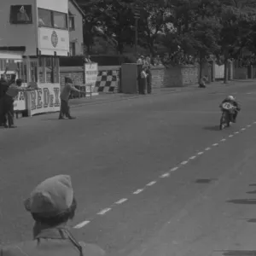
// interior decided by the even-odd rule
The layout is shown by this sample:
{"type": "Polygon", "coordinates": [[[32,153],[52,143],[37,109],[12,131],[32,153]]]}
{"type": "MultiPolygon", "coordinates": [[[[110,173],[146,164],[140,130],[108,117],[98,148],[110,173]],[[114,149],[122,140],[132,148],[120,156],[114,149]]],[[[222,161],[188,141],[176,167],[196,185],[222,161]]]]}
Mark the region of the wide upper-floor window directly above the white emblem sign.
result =
{"type": "Polygon", "coordinates": [[[67,14],[38,8],[38,26],[67,30],[67,14]]]}

